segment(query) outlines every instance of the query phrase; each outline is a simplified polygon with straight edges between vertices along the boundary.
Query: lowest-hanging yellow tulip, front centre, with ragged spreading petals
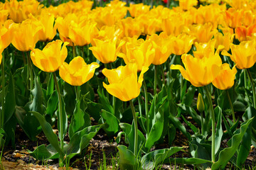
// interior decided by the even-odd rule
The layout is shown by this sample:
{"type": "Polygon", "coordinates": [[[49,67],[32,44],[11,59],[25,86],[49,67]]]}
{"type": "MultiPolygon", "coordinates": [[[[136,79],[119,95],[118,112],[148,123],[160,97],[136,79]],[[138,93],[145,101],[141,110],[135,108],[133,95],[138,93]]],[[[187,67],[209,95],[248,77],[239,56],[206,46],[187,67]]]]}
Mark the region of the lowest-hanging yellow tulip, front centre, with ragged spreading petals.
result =
{"type": "Polygon", "coordinates": [[[142,86],[144,73],[148,70],[143,67],[142,72],[137,76],[137,64],[130,63],[126,66],[120,66],[117,69],[103,69],[102,74],[107,77],[109,85],[103,82],[107,92],[121,101],[130,101],[137,98],[142,86]]]}

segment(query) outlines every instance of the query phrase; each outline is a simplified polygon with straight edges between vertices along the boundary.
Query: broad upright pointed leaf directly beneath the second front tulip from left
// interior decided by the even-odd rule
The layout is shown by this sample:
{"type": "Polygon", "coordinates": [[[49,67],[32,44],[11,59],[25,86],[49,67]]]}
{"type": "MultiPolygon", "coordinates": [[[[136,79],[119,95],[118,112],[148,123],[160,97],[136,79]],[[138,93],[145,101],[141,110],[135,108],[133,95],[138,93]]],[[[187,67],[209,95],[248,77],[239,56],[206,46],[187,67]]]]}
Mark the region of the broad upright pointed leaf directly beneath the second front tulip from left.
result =
{"type": "Polygon", "coordinates": [[[82,109],[80,109],[80,101],[78,101],[75,105],[75,111],[71,118],[68,135],[71,138],[73,137],[75,132],[78,132],[79,130],[84,129],[87,126],[90,126],[90,124],[90,116],[84,111],[82,111],[82,109]]]}

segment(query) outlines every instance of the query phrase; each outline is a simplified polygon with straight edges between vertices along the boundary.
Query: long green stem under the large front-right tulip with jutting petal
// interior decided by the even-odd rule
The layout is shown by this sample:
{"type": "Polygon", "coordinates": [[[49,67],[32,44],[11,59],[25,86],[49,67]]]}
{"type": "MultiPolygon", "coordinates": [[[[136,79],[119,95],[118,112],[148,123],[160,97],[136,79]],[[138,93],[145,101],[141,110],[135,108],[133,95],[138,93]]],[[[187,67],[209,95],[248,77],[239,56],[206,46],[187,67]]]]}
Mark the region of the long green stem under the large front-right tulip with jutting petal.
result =
{"type": "Polygon", "coordinates": [[[210,92],[208,91],[208,87],[205,86],[206,96],[208,98],[210,104],[210,115],[212,117],[212,146],[211,146],[211,158],[212,162],[215,162],[215,115],[213,110],[213,102],[210,97],[210,92]]]}

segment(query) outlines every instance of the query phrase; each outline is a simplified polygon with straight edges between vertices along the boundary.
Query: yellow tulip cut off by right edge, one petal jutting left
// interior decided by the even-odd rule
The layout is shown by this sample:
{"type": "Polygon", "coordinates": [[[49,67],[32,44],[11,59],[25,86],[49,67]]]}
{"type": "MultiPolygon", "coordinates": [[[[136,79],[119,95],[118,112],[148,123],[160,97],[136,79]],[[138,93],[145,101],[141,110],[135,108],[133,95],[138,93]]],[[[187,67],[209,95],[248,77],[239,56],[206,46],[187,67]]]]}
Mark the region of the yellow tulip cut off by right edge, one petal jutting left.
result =
{"type": "Polygon", "coordinates": [[[226,50],[222,55],[229,56],[237,64],[238,69],[249,69],[256,62],[256,40],[242,41],[240,45],[230,45],[232,55],[226,50]]]}

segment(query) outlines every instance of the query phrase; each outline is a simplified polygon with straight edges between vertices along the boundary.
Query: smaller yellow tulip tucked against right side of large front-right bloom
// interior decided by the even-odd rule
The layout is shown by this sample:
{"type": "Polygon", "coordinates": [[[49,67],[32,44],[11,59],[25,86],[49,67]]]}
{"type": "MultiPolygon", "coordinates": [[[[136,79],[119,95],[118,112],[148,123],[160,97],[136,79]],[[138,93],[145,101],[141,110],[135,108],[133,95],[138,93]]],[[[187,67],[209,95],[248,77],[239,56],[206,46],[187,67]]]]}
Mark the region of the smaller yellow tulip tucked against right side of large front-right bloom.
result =
{"type": "Polygon", "coordinates": [[[235,74],[237,69],[235,66],[230,69],[228,63],[224,63],[221,67],[220,74],[213,80],[213,86],[220,90],[230,89],[234,85],[235,74]]]}

